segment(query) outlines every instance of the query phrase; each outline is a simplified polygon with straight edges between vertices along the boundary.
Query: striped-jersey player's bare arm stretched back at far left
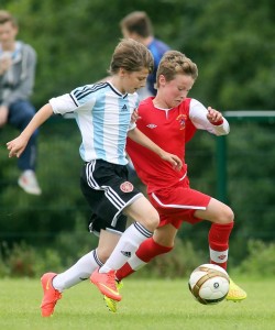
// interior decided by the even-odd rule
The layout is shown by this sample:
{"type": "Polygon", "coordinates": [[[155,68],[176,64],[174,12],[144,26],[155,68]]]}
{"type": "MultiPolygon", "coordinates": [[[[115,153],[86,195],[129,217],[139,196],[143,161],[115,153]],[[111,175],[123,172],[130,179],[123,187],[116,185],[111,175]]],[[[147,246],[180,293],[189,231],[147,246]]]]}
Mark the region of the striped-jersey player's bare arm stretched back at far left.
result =
{"type": "Polygon", "coordinates": [[[43,106],[30,121],[28,127],[23,130],[23,132],[12,141],[7,143],[7,148],[9,152],[9,157],[20,157],[20,155],[25,150],[25,146],[34,133],[34,131],[41,127],[51,116],[53,114],[53,108],[50,103],[43,106]]]}

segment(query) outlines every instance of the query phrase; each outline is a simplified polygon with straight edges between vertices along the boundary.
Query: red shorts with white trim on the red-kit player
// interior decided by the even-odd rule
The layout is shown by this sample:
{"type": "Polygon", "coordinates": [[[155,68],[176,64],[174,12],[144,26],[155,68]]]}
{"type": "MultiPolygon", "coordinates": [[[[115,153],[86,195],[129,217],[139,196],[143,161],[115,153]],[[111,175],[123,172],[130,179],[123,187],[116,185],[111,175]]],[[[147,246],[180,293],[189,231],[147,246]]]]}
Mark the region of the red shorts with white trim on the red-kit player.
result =
{"type": "Polygon", "coordinates": [[[211,197],[189,187],[186,177],[176,186],[150,194],[150,201],[157,210],[161,222],[158,227],[173,224],[179,228],[186,221],[195,224],[202,219],[194,217],[196,210],[206,210],[211,197]]]}

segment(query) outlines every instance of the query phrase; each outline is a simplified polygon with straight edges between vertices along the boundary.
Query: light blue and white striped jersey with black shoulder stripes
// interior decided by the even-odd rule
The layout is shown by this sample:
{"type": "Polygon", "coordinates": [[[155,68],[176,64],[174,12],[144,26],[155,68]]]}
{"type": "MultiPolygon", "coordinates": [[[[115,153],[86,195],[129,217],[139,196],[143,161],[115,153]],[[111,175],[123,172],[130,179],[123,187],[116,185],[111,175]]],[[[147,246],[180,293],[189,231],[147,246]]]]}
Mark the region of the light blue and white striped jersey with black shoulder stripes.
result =
{"type": "Polygon", "coordinates": [[[52,98],[50,105],[54,113],[74,113],[82,138],[79,153],[85,162],[128,163],[125,142],[128,131],[135,128],[131,116],[139,105],[138,94],[122,95],[110,82],[98,82],[52,98]]]}

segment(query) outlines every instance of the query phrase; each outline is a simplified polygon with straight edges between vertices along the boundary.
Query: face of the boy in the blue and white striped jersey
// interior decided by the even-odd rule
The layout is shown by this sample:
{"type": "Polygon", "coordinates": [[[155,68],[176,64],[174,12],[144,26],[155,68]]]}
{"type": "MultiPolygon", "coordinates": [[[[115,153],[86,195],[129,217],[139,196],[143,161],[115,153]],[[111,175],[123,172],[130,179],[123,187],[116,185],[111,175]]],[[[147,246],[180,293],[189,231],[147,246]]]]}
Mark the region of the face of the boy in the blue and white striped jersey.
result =
{"type": "Polygon", "coordinates": [[[148,76],[148,69],[143,68],[140,72],[129,73],[124,69],[121,69],[121,91],[123,94],[129,92],[133,94],[138,91],[140,88],[146,85],[146,79],[148,76]]]}

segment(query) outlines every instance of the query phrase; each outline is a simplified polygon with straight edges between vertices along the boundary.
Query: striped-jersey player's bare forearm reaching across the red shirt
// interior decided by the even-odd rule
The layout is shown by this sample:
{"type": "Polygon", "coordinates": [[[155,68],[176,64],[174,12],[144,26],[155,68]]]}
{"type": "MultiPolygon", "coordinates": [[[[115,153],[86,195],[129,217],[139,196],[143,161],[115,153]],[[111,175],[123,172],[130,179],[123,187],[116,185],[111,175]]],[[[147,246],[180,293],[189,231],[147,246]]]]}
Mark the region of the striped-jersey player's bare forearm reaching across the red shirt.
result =
{"type": "Polygon", "coordinates": [[[145,134],[143,134],[138,128],[130,130],[128,132],[128,136],[134,142],[156,153],[162,160],[170,163],[173,165],[173,168],[179,170],[183,167],[183,162],[179,160],[178,156],[169,154],[162,150],[157,144],[155,144],[145,134]]]}

